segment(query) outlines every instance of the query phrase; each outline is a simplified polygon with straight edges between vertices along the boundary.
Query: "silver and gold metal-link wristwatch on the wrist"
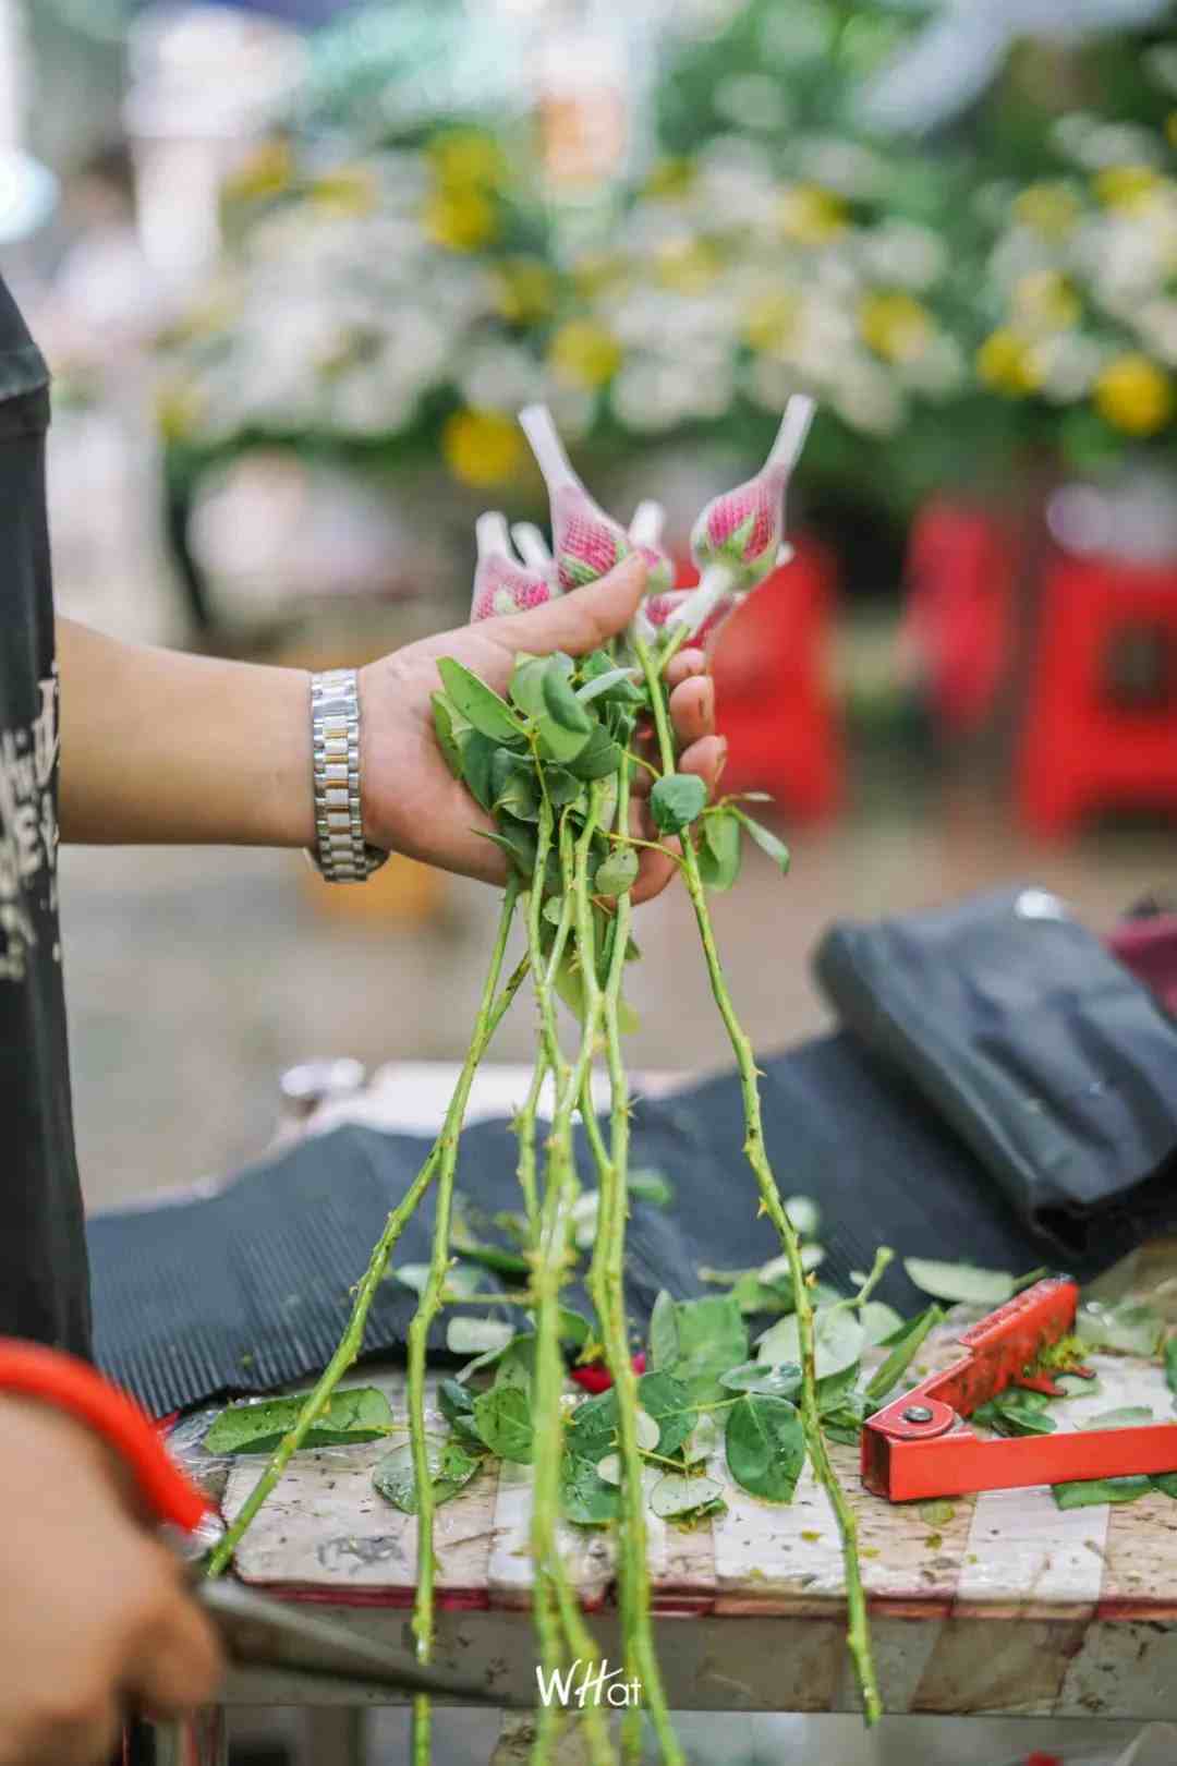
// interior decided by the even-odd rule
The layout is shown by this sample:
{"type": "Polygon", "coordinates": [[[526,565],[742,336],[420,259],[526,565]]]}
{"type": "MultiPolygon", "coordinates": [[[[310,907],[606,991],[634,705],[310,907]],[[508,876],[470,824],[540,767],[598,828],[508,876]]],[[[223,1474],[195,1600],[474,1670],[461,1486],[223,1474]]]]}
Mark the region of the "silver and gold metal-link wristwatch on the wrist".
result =
{"type": "Polygon", "coordinates": [[[311,676],[311,766],[316,844],[307,857],[328,883],[367,883],[388,853],[364,839],[360,683],[353,668],[311,676]]]}

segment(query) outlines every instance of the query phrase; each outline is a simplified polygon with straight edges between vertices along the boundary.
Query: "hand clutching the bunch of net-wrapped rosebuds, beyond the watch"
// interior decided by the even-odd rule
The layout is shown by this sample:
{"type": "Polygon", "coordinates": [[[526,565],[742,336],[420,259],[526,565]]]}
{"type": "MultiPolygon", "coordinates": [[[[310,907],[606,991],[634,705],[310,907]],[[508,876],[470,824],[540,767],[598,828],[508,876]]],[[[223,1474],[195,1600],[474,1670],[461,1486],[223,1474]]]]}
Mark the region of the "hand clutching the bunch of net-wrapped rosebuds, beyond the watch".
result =
{"type": "MultiPolygon", "coordinates": [[[[360,673],[364,706],[365,837],[390,851],[482,878],[506,879],[506,860],[482,839],[494,825],[450,774],[432,724],[431,694],[441,685],[438,659],[457,657],[498,692],[506,692],[521,650],[584,655],[607,643],[633,618],[646,572],[628,558],[600,583],[577,588],[529,613],[480,620],[441,638],[406,645],[360,673]]],[[[671,719],[683,747],[679,772],[697,774],[715,788],[723,765],[723,740],[715,735],[715,687],[701,650],[679,650],[667,668],[671,719]]],[[[649,775],[635,781],[646,795],[649,775]]],[[[633,832],[656,839],[644,805],[635,805],[633,832]]],[[[665,851],[642,849],[633,901],[649,901],[674,874],[665,851]]]]}

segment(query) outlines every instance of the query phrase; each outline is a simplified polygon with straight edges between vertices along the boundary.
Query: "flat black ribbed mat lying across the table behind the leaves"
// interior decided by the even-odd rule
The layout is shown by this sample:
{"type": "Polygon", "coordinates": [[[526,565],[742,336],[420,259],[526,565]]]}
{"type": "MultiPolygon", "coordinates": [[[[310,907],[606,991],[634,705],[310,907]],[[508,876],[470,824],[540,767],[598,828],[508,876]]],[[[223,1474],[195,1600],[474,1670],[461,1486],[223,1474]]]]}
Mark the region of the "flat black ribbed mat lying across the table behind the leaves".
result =
{"type": "MultiPolygon", "coordinates": [[[[1016,1211],[963,1141],[849,1035],[769,1060],[764,1116],[782,1190],[821,1203],[822,1275],[835,1286],[866,1270],[882,1241],[903,1256],[967,1257],[1016,1272],[1057,1261],[1029,1213],[1016,1211]]],[[[648,1317],[663,1286],[699,1293],[701,1264],[745,1268],[775,1256],[741,1141],[739,1088],[731,1075],[635,1109],[633,1166],[660,1167],[676,1190],[669,1210],[633,1204],[628,1305],[635,1323],[648,1317]]],[[[334,1351],[349,1291],[427,1150],[418,1137],[344,1127],[245,1171],[210,1199],[95,1217],[99,1363],[155,1415],[305,1379],[334,1351]]],[[[517,1210],[515,1143],[505,1121],[476,1125],[462,1137],[459,1187],[487,1215],[517,1210]]],[[[1147,1196],[1133,1196],[1131,1210],[1122,1197],[1094,1210],[1068,1259],[1073,1272],[1094,1275],[1151,1231],[1177,1222],[1172,1189],[1152,1185],[1147,1196]]],[[[394,1263],[427,1261],[431,1227],[427,1199],[394,1263]]],[[[898,1268],[881,1293],[907,1310],[921,1303],[898,1268]]],[[[399,1351],[415,1303],[402,1284],[385,1282],[365,1351],[399,1351]]],[[[434,1349],[445,1351],[443,1328],[434,1349]]]]}

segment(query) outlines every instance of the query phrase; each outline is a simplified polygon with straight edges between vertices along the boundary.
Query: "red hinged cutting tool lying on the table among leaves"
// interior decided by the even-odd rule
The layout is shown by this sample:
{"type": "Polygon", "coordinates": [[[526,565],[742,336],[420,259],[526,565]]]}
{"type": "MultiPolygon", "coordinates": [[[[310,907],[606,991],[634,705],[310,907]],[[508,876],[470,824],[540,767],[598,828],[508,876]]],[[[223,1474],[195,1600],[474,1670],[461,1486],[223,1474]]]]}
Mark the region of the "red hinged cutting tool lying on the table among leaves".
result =
{"type": "MultiPolygon", "coordinates": [[[[1066,1275],[1036,1282],[960,1339],[965,1355],[930,1374],[863,1425],[863,1483],[911,1503],[1025,1483],[1071,1483],[1129,1473],[1177,1471],[1177,1423],[1082,1429],[1020,1439],[981,1439],[967,1418],[1006,1386],[1059,1393],[1032,1374],[1043,1349],[1075,1324],[1078,1287],[1066,1275]]],[[[1071,1369],[1071,1372],[1087,1372],[1071,1369]]]]}

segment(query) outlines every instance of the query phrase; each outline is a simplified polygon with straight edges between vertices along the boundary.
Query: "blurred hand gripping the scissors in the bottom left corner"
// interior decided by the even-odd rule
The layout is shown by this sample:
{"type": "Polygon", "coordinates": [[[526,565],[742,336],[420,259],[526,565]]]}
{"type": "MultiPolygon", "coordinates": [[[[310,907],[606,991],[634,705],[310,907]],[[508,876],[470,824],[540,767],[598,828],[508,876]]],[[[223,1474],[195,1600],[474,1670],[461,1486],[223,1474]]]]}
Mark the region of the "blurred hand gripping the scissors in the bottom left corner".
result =
{"type": "Polygon", "coordinates": [[[212,1699],[219,1648],[97,1436],[25,1399],[0,1432],[0,1766],[102,1766],[129,1711],[212,1699]]]}

